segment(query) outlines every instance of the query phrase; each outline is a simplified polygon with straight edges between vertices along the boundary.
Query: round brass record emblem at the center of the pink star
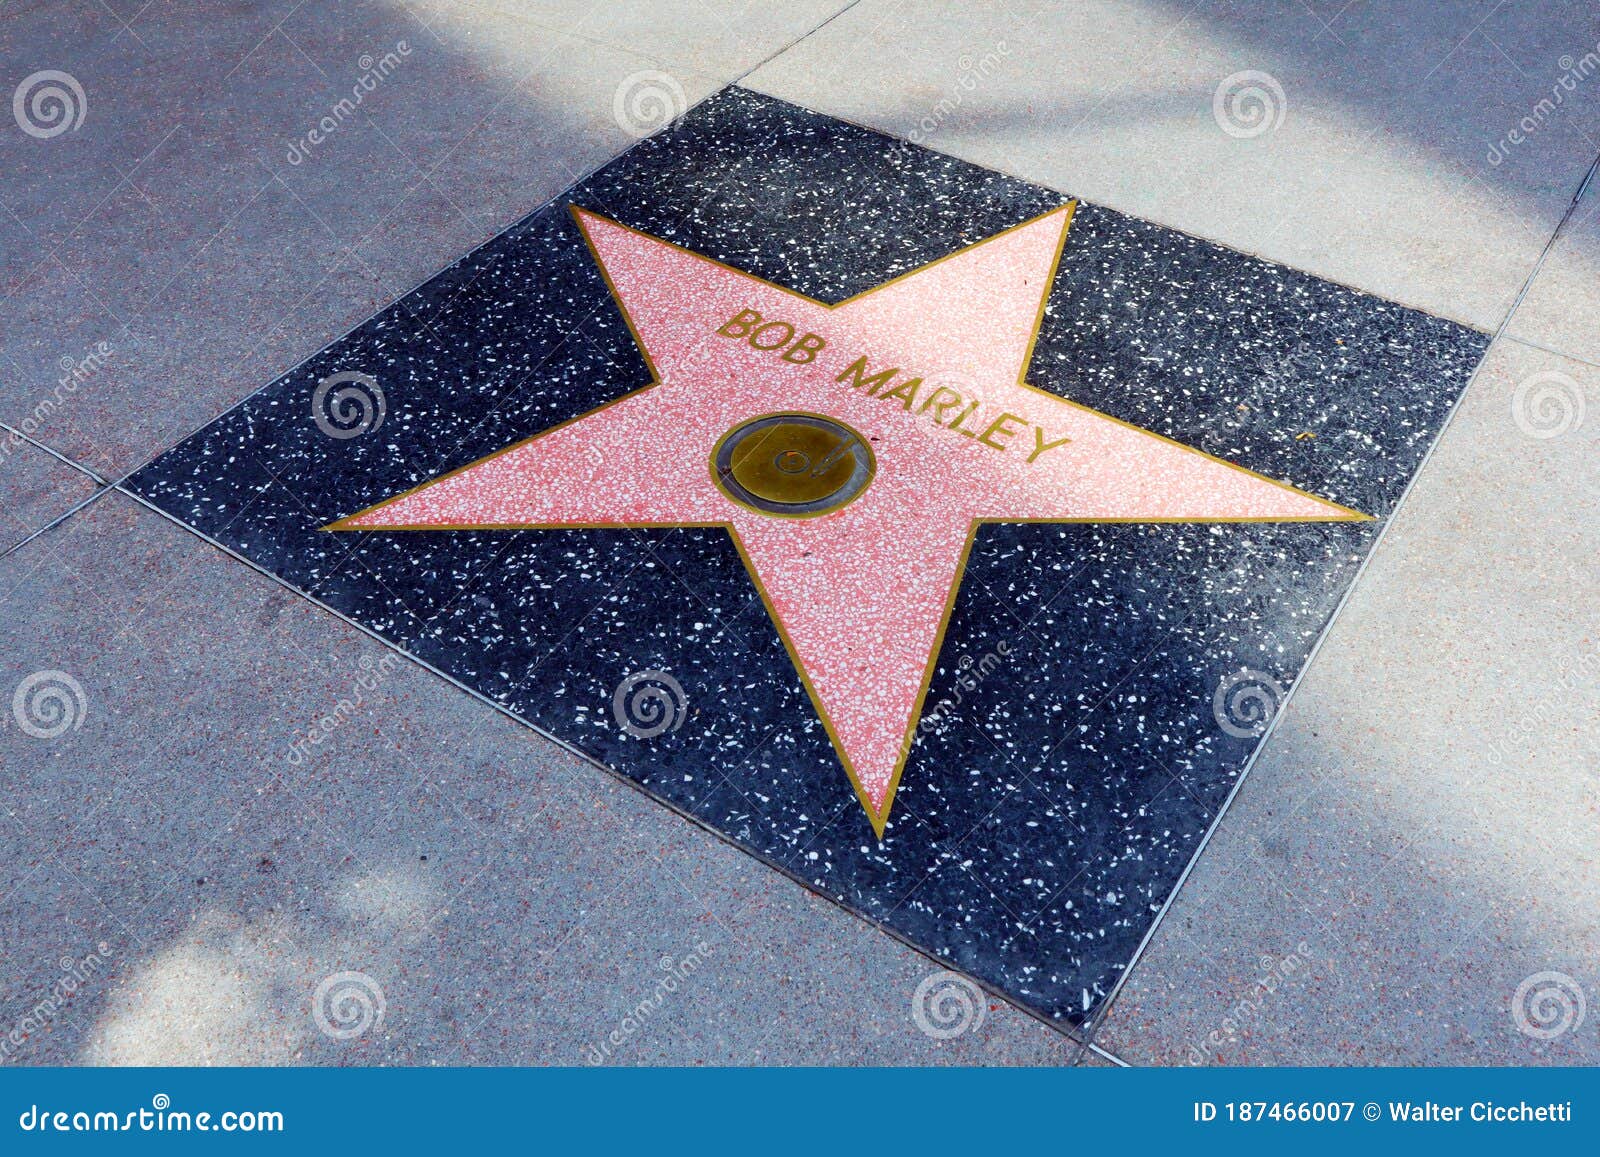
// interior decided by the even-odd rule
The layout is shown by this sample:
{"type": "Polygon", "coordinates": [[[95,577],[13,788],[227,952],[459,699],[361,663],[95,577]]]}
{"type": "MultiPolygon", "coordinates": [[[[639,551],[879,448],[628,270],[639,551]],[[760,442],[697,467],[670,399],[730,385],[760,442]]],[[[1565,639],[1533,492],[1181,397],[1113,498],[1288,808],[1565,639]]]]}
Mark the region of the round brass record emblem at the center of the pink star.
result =
{"type": "Polygon", "coordinates": [[[710,474],[733,501],[762,514],[810,518],[848,504],[877,470],[872,446],[822,414],[765,414],[722,435],[710,474]]]}

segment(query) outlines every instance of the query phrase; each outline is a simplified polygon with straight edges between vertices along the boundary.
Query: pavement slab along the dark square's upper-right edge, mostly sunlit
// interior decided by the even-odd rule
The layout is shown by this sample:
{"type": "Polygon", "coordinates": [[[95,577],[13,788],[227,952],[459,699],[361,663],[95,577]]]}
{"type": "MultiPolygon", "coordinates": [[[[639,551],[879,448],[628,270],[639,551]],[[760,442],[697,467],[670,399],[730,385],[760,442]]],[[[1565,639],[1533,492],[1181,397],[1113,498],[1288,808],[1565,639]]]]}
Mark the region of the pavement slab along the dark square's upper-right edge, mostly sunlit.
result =
{"type": "Polygon", "coordinates": [[[1493,330],[1600,154],[1597,42],[1554,0],[862,0],[744,83],[1493,330]]]}

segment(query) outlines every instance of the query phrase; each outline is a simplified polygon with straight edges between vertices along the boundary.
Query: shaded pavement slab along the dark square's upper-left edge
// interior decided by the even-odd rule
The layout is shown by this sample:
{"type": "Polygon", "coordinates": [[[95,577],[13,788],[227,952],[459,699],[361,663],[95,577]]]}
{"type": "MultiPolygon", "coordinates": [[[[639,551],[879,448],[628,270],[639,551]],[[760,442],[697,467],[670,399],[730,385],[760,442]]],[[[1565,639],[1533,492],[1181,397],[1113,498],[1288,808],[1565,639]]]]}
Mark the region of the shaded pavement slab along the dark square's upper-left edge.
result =
{"type": "Polygon", "coordinates": [[[491,10],[272,5],[234,26],[186,3],[123,30],[61,8],[0,35],[5,75],[67,69],[86,104],[77,130],[0,134],[0,421],[104,344],[35,437],[107,477],[717,86],[491,10]]]}

